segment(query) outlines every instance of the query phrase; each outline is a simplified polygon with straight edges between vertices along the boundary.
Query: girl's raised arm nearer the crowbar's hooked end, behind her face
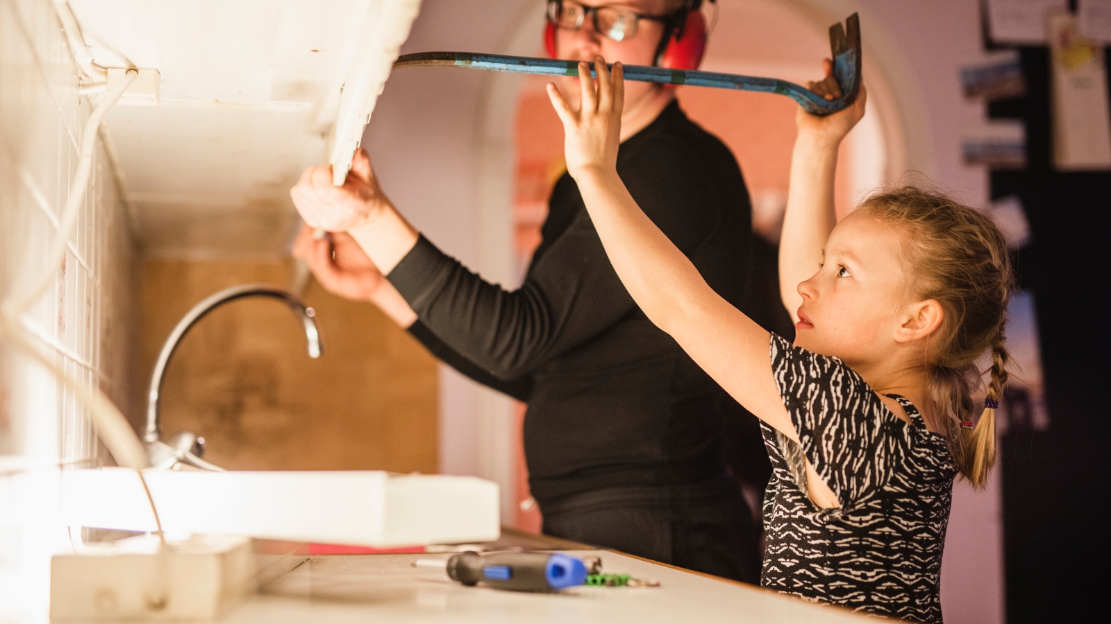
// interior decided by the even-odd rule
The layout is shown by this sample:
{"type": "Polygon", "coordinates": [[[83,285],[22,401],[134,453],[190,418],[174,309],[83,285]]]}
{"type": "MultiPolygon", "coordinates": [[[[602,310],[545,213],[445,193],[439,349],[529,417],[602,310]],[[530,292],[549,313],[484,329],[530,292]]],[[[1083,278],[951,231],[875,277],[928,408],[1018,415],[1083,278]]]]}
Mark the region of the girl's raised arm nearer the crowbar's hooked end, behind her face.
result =
{"type": "MultiPolygon", "coordinates": [[[[827,99],[840,98],[841,89],[832,78],[833,63],[827,59],[823,66],[825,79],[807,87],[827,99]]],[[[833,175],[838,147],[863,117],[867,95],[861,87],[851,107],[828,117],[812,115],[802,107],[795,113],[799,133],[791,153],[787,212],[779,241],[779,292],[794,322],[799,322],[799,306],[802,304],[799,284],[821,268],[822,250],[837,224],[833,175]]]]}

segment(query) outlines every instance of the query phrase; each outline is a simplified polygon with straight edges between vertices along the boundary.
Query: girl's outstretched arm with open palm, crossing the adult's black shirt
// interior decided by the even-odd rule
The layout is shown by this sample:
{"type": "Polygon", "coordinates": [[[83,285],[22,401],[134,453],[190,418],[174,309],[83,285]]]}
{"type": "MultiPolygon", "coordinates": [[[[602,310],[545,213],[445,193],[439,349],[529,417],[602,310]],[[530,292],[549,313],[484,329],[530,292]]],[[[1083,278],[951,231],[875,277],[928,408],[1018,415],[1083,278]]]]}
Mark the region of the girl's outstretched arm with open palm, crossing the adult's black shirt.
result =
{"type": "MultiPolygon", "coordinates": [[[[798,441],[772,379],[768,332],[713,292],[618,177],[622,70],[614,64],[611,79],[604,60],[598,58],[594,67],[598,88],[592,80],[580,81],[579,111],[554,84],[548,93],[563,121],[568,171],[613,269],[644,314],[699,366],[759,419],[798,441]]],[[[590,76],[588,63],[579,63],[579,76],[590,76]]]]}

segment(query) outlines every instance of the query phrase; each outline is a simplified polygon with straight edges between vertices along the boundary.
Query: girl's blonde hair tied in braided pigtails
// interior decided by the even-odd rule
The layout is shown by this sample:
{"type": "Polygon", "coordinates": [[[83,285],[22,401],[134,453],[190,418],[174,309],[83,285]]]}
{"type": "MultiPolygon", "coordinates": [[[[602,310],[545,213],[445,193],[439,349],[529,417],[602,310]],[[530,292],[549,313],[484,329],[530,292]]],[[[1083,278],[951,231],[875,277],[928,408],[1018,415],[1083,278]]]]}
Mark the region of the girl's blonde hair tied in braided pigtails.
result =
{"type": "Polygon", "coordinates": [[[873,194],[859,210],[904,230],[912,295],[944,310],[925,363],[924,407],[943,427],[961,474],[982,489],[995,462],[995,410],[985,407],[974,427],[962,423],[972,420],[983,354],[991,353],[985,404],[998,403],[1007,384],[1007,303],[1014,288],[1007,242],[982,213],[914,187],[873,194]]]}

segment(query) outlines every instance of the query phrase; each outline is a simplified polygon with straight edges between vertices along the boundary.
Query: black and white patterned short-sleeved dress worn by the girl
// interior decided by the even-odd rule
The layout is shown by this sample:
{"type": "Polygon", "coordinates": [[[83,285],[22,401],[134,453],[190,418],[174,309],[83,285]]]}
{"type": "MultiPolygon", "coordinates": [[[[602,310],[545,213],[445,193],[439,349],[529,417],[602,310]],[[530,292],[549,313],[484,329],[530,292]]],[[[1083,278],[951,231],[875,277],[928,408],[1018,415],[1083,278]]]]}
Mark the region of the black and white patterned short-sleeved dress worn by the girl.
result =
{"type": "Polygon", "coordinates": [[[944,436],[910,401],[895,416],[837,358],[771,338],[771,363],[801,445],[763,425],[772,476],[764,496],[761,584],[805,598],[941,622],[941,552],[957,466],[944,436]],[[805,494],[802,456],[841,503],[805,494]],[[801,484],[801,486],[800,486],[801,484]]]}

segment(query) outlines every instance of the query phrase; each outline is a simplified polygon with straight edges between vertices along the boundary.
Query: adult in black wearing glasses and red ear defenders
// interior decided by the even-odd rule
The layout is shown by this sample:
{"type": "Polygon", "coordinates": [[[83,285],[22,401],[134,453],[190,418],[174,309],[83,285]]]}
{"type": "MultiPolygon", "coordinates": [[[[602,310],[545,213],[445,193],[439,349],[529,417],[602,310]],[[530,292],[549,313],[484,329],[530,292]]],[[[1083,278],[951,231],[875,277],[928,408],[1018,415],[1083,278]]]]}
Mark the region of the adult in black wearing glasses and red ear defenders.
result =
{"type": "MultiPolygon", "coordinates": [[[[549,2],[550,52],[697,67],[704,22],[688,13],[698,4],[549,2]],[[683,59],[693,52],[680,46],[691,43],[698,58],[683,59]]],[[[578,93],[577,80],[563,79],[563,92],[578,93]]],[[[629,82],[625,103],[622,180],[710,285],[741,305],[751,210],[735,160],[687,119],[672,89],[629,82]]],[[[734,403],[635,306],[569,175],[556,183],[516,291],[420,236],[361,150],[343,187],[330,175],[310,168],[291,194],[306,223],[332,240],[314,241],[307,228],[294,253],[324,288],[377,303],[444,362],[528,402],[526,457],[544,533],[759,581],[751,512],[721,459],[722,413],[734,403]]]]}

